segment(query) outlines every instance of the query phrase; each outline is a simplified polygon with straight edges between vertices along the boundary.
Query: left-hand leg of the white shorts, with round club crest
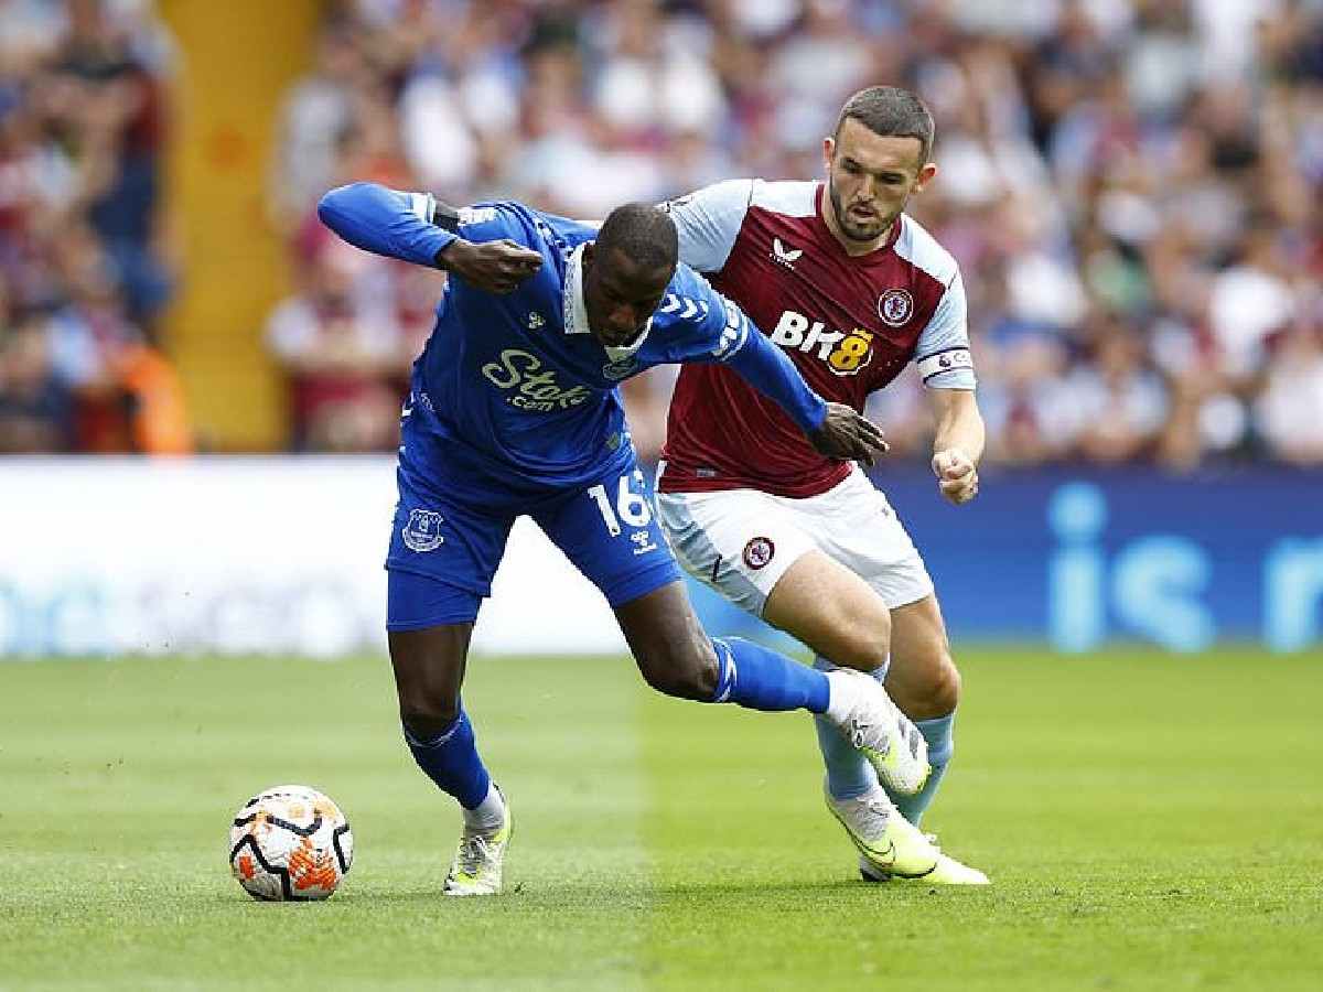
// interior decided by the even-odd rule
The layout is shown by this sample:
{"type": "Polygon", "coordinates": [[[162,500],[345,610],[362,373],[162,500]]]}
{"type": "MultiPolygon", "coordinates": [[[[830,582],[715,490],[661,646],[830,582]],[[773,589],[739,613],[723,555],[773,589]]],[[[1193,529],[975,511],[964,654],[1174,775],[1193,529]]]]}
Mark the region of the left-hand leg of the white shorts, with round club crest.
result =
{"type": "Polygon", "coordinates": [[[754,616],[765,618],[773,589],[815,549],[792,515],[757,489],[658,493],[658,515],[685,571],[754,616]]]}

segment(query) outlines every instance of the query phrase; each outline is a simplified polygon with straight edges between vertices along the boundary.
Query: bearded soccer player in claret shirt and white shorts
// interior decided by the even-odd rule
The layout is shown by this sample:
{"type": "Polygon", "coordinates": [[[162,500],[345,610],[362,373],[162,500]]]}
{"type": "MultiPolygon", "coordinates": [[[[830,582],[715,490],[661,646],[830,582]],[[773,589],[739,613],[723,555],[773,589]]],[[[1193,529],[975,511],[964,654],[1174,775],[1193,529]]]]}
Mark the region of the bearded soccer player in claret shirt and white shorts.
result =
{"type": "MultiPolygon", "coordinates": [[[[914,94],[872,87],[823,143],[826,183],[718,183],[665,204],[680,258],[763,328],[822,395],[863,410],[914,361],[937,417],[933,471],[954,504],[978,492],[974,398],[955,259],[905,204],[937,175],[933,118],[914,94]]],[[[827,806],[865,880],[986,884],[933,845],[898,864],[951,759],[960,679],[933,581],[886,497],[853,464],[814,451],[786,415],[714,365],[680,372],[658,471],[663,529],[680,562],[732,602],[811,647],[815,665],[872,672],[923,734],[933,774],[888,790],[835,727],[818,723],[827,806]]]]}

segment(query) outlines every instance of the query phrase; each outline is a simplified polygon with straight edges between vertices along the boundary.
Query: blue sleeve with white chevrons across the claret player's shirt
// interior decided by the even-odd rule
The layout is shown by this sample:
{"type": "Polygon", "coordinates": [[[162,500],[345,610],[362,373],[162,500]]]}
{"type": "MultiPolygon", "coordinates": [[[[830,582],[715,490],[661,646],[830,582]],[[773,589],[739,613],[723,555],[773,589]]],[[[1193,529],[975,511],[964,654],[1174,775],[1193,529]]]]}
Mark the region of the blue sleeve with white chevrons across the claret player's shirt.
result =
{"type": "Polygon", "coordinates": [[[658,315],[669,317],[663,333],[676,339],[673,361],[729,365],[785,410],[804,434],[822,427],[827,419],[826,401],[734,302],[685,267],[681,267],[671,288],[658,315]]]}

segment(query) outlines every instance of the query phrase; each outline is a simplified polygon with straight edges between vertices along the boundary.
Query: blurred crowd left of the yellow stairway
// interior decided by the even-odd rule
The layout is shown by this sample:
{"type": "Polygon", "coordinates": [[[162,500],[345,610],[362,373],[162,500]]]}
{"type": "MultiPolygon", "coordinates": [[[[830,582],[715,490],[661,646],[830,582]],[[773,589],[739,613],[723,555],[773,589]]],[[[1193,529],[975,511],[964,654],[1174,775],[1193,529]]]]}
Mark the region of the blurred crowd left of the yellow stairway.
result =
{"type": "Polygon", "coordinates": [[[160,176],[173,50],[142,0],[0,0],[0,452],[181,452],[160,176]]]}

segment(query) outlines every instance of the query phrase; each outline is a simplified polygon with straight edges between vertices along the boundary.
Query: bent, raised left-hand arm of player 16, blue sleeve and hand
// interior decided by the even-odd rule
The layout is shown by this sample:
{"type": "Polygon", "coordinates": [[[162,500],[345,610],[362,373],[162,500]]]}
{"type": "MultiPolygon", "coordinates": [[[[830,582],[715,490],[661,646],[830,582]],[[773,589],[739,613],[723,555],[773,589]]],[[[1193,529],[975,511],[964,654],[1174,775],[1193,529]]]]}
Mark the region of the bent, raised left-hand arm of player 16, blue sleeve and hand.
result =
{"type": "Polygon", "coordinates": [[[537,251],[508,238],[471,242],[447,230],[458,216],[430,193],[353,183],[323,196],[318,217],[355,247],[443,269],[486,292],[511,292],[542,266],[537,251]]]}

